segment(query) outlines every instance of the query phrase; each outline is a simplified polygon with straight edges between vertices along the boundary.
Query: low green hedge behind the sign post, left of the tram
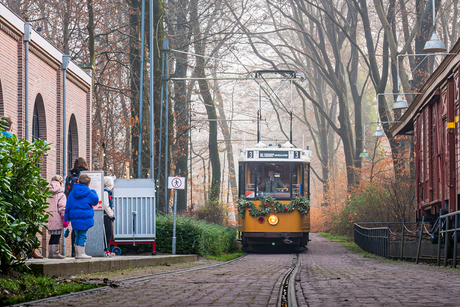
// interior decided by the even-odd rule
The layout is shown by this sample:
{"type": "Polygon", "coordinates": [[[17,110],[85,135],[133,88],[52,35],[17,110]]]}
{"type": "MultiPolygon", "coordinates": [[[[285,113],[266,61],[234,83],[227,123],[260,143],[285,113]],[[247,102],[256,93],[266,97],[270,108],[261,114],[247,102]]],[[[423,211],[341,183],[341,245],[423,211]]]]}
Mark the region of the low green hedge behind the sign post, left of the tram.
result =
{"type": "MultiPolygon", "coordinates": [[[[170,253],[172,250],[172,215],[157,216],[157,250],[170,253]]],[[[236,229],[209,224],[187,217],[177,217],[176,253],[220,255],[237,249],[236,229]]]]}

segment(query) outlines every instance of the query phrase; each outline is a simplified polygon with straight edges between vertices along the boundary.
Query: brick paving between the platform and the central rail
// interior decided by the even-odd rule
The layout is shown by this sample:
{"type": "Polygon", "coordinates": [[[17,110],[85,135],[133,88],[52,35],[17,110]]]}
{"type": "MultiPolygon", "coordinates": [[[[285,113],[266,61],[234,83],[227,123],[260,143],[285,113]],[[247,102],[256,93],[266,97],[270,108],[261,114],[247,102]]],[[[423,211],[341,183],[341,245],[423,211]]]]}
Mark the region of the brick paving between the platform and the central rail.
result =
{"type": "Polygon", "coordinates": [[[275,306],[293,254],[251,254],[231,264],[163,275],[34,306],[275,306]]]}

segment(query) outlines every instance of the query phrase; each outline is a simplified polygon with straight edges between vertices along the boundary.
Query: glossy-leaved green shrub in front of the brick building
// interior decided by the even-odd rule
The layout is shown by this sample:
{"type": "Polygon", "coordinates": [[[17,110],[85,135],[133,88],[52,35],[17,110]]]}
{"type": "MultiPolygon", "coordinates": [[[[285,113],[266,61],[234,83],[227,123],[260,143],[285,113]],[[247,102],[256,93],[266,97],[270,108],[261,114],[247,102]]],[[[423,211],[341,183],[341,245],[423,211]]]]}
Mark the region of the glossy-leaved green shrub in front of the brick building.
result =
{"type": "Polygon", "coordinates": [[[24,255],[40,242],[46,226],[48,183],[40,177],[40,160],[49,150],[45,141],[0,137],[0,270],[21,265],[24,255]]]}

